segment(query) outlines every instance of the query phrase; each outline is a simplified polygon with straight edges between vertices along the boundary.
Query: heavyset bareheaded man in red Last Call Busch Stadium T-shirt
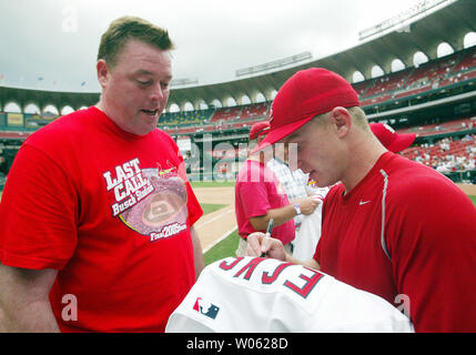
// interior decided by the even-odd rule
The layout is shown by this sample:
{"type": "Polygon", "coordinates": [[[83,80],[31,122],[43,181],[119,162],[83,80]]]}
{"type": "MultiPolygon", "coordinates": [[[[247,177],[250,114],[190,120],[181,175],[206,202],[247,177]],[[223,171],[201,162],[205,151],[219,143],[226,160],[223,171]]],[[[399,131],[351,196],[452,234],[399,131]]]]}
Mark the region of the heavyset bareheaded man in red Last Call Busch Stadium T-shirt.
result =
{"type": "Polygon", "coordinates": [[[201,217],[156,129],[166,31],[120,18],[98,54],[100,102],[33,133],[0,204],[0,329],[163,332],[203,268],[201,217]]]}

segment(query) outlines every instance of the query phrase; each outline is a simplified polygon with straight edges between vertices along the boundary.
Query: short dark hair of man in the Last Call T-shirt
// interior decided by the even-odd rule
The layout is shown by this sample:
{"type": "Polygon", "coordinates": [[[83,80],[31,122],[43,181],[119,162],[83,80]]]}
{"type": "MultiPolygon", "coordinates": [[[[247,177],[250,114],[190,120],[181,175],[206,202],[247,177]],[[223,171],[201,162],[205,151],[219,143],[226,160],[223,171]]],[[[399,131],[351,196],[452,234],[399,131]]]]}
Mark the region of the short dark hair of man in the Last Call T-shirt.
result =
{"type": "Polygon", "coordinates": [[[124,16],[112,21],[108,30],[102,34],[98,60],[103,59],[108,65],[114,67],[128,41],[133,39],[161,50],[174,48],[165,29],[138,17],[124,16]]]}

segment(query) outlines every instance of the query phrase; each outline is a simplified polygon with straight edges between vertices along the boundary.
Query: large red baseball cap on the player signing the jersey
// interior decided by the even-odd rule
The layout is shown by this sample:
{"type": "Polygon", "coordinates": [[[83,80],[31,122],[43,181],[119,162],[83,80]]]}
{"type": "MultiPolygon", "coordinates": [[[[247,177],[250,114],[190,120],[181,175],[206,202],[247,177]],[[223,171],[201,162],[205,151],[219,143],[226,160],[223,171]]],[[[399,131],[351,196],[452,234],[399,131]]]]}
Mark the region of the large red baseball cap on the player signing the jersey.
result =
{"type": "Polygon", "coordinates": [[[323,68],[301,70],[286,80],[274,98],[270,131],[254,151],[281,141],[317,114],[336,106],[359,105],[354,88],[341,75],[323,68]]]}

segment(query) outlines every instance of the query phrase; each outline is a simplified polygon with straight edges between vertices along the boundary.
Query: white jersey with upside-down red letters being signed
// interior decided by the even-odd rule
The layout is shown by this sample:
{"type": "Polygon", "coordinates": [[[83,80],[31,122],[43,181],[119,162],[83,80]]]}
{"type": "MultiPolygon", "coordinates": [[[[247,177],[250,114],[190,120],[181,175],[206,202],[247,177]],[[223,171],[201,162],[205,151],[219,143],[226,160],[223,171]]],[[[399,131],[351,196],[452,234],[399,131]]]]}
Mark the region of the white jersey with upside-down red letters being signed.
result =
{"type": "Polygon", "coordinates": [[[385,300],[330,275],[246,256],[206,266],[165,332],[413,332],[413,325],[385,300]]]}

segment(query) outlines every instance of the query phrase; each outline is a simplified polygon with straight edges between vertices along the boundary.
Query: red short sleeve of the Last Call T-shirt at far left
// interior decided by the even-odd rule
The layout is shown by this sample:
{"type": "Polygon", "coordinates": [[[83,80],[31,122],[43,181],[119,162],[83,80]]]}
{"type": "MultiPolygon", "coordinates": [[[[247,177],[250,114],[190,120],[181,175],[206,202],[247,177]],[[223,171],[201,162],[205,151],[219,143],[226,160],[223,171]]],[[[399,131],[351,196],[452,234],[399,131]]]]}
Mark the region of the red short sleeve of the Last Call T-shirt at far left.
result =
{"type": "Polygon", "coordinates": [[[0,204],[0,260],[24,268],[64,267],[77,245],[78,194],[60,164],[19,150],[0,204]]]}

